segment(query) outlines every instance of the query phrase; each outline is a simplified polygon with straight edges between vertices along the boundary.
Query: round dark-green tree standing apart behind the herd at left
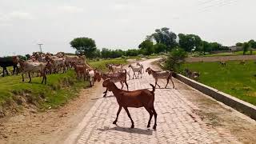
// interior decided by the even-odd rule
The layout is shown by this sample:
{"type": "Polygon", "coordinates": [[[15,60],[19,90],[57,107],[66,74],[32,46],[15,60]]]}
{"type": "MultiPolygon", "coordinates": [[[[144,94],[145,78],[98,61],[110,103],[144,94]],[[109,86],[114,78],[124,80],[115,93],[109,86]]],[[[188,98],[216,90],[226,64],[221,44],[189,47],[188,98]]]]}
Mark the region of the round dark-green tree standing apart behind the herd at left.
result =
{"type": "Polygon", "coordinates": [[[74,38],[70,45],[76,49],[76,53],[86,55],[87,58],[92,58],[96,50],[96,44],[91,38],[74,38]]]}

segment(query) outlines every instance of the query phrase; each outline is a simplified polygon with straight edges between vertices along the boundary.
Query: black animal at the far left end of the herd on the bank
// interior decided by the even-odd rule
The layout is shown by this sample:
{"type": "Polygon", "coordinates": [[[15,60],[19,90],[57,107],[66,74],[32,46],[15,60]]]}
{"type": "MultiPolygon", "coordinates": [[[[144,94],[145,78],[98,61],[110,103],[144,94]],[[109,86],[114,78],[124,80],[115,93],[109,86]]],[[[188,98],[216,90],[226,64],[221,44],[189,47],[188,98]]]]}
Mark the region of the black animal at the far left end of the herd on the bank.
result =
{"type": "Polygon", "coordinates": [[[16,71],[16,74],[18,74],[18,57],[5,57],[5,58],[0,58],[0,66],[2,67],[2,77],[5,76],[5,71],[6,74],[9,75],[6,67],[8,66],[14,66],[14,71],[13,74],[16,71]]]}

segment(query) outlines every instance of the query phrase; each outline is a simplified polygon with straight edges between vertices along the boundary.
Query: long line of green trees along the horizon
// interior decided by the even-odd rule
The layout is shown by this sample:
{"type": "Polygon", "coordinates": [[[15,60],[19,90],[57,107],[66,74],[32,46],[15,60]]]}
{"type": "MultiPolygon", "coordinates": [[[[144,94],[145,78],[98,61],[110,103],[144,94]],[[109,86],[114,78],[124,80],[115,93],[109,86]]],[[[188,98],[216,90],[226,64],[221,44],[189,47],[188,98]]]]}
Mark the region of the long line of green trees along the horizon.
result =
{"type": "MultiPolygon", "coordinates": [[[[91,38],[74,38],[70,45],[77,54],[86,55],[87,58],[119,58],[138,56],[139,54],[161,54],[169,53],[174,48],[181,48],[186,52],[198,51],[201,54],[217,50],[229,50],[228,46],[223,46],[218,42],[207,42],[197,34],[175,34],[167,27],[157,29],[153,34],[147,35],[137,49],[110,50],[103,48],[98,50],[95,41],[91,38]]],[[[256,42],[254,40],[244,43],[238,42],[237,46],[243,46],[244,50],[249,50],[250,47],[256,48],[256,42]]]]}

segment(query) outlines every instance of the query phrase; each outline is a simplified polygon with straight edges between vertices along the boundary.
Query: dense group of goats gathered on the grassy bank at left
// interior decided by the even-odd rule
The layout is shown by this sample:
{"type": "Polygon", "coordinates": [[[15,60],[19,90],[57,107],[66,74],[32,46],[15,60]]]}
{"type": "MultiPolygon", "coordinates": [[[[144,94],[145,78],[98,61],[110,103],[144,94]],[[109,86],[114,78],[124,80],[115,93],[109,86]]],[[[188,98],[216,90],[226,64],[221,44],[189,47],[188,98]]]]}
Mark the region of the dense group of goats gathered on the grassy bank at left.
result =
{"type": "Polygon", "coordinates": [[[43,53],[33,53],[29,60],[24,61],[17,56],[0,58],[0,66],[3,68],[2,77],[5,74],[9,74],[6,67],[13,66],[13,74],[22,74],[22,82],[24,82],[24,74],[28,74],[31,82],[31,74],[40,74],[42,77],[42,83],[46,84],[46,74],[56,74],[59,72],[65,73],[66,70],[74,67],[74,70],[78,78],[84,76],[84,80],[90,78],[90,86],[94,85],[97,80],[98,71],[94,70],[86,63],[86,58],[83,56],[76,55],[65,55],[63,52],[58,52],[57,54],[43,54],[43,53]]]}

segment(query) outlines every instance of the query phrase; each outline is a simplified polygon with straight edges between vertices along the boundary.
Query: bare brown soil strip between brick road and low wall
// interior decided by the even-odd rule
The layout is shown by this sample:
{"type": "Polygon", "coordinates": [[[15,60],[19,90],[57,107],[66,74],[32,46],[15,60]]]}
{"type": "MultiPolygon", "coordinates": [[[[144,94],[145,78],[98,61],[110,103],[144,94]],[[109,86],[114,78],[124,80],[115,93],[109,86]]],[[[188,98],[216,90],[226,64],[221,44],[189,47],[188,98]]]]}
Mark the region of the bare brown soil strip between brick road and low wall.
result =
{"type": "MultiPolygon", "coordinates": [[[[154,65],[154,69],[160,70],[156,65],[154,65]]],[[[198,114],[206,124],[218,131],[229,130],[242,143],[256,142],[256,122],[253,119],[198,90],[194,90],[175,78],[174,84],[187,100],[198,106],[198,110],[194,110],[194,113],[198,114]]]]}

